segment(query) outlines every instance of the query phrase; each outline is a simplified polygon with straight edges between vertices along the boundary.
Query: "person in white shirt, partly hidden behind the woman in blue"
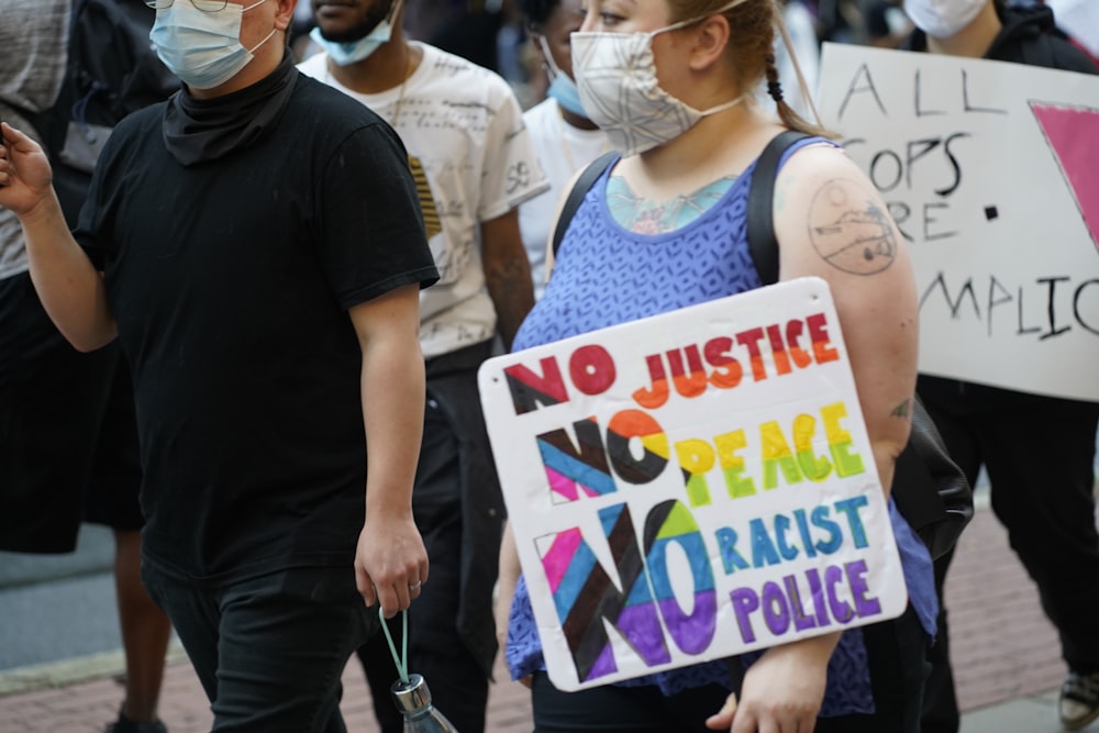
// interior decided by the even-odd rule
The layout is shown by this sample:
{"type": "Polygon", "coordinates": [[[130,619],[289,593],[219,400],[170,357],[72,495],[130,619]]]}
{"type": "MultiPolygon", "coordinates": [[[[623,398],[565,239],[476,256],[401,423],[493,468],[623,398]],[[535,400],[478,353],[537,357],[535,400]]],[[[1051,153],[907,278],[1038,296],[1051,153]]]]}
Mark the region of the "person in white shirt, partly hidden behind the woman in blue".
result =
{"type": "Polygon", "coordinates": [[[523,113],[548,190],[519,208],[519,229],[531,263],[534,298],[546,279],[550,225],[566,185],[578,170],[610,149],[607,136],[588,119],[573,80],[569,35],[580,30],[580,0],[519,0],[535,54],[550,76],[546,99],[523,113]]]}

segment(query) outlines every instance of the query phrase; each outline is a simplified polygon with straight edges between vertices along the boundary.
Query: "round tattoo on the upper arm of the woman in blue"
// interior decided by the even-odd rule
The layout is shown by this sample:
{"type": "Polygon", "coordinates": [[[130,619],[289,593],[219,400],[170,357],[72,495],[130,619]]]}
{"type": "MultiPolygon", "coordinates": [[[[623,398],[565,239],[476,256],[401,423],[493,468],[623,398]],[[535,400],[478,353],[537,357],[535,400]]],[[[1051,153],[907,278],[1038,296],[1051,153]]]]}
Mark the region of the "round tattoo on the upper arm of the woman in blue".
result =
{"type": "Polygon", "coordinates": [[[824,262],[852,275],[874,275],[897,257],[889,214],[863,186],[833,178],[809,208],[809,238],[824,262]]]}

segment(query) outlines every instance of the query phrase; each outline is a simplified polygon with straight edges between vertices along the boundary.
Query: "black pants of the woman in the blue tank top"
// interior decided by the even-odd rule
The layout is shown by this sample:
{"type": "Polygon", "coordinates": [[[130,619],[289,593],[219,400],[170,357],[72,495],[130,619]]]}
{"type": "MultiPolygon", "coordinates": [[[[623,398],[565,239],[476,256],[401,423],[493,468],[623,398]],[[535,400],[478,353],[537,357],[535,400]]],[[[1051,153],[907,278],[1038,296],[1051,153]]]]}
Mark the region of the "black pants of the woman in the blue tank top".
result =
{"type": "MultiPolygon", "coordinates": [[[[918,733],[928,673],[926,634],[911,607],[898,619],[863,628],[870,667],[872,715],[820,718],[814,733],[918,733]]],[[[740,662],[732,660],[733,670],[740,662]]],[[[740,686],[740,679],[733,679],[740,686]]],[[[607,685],[562,692],[534,675],[534,733],[704,733],[724,703],[718,685],[665,697],[656,687],[607,685]]]]}

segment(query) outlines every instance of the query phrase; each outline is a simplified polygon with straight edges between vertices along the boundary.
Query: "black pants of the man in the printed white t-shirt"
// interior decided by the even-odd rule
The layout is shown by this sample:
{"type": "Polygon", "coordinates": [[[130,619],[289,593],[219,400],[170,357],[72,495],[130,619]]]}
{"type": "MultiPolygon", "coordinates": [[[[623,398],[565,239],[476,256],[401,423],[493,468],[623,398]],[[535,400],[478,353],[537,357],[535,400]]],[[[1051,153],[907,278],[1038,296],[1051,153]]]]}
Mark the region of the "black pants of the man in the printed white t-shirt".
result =
{"type": "MultiPolygon", "coordinates": [[[[423,442],[412,493],[415,517],[431,562],[429,580],[409,609],[409,671],[423,675],[435,707],[462,733],[485,730],[488,677],[457,630],[460,602],[462,496],[458,445],[449,423],[432,400],[424,415],[423,442]]],[[[389,630],[401,648],[400,617],[389,630]]],[[[401,733],[402,719],[389,688],[397,667],[384,634],[358,649],[382,733],[401,733]]]]}

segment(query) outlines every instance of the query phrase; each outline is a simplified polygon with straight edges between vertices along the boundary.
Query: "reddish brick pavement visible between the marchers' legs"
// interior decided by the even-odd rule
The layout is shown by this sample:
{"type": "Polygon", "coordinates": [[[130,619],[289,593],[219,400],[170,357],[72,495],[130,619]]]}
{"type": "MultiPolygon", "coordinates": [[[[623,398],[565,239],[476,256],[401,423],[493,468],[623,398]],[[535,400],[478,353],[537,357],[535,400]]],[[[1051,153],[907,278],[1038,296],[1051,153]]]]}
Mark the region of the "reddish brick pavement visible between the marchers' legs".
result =
{"type": "MultiPolygon", "coordinates": [[[[946,595],[963,710],[1035,695],[1059,685],[1064,665],[1058,657],[1056,634],[1041,613],[1033,584],[987,509],[977,512],[962,537],[946,595]]],[[[497,678],[507,680],[499,664],[497,678]]],[[[348,665],[344,686],[348,730],[376,733],[369,695],[354,665],[348,665]]],[[[0,697],[0,733],[101,732],[103,723],[114,715],[120,695],[116,680],[101,677],[0,697]]],[[[160,713],[173,733],[209,731],[211,717],[206,699],[186,662],[167,669],[160,713]]],[[[489,696],[488,732],[529,733],[530,730],[525,690],[510,681],[495,685],[489,696]]],[[[1003,733],[1014,732],[1007,728],[1003,733]]]]}

